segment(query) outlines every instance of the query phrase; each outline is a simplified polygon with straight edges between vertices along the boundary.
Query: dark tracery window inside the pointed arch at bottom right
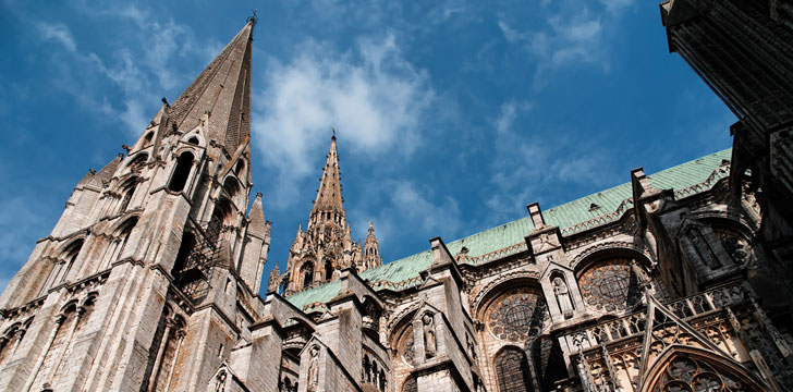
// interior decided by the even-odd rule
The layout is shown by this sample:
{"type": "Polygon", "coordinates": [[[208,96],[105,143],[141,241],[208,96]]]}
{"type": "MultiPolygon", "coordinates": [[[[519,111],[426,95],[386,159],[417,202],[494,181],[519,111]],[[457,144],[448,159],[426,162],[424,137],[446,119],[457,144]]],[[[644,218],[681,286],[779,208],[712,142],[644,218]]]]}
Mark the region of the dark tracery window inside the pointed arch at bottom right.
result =
{"type": "Polygon", "coordinates": [[[652,392],[737,392],[758,391],[753,382],[742,382],[737,377],[719,371],[705,362],[675,357],[663,369],[652,392]]]}

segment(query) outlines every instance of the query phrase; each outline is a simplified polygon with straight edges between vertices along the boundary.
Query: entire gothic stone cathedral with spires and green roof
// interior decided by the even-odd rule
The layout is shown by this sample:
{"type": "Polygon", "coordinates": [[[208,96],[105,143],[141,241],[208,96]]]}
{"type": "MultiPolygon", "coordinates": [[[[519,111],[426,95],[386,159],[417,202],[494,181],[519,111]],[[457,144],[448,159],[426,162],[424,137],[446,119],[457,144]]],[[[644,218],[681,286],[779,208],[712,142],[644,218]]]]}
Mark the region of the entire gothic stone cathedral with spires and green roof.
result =
{"type": "Polygon", "coordinates": [[[0,390],[793,391],[793,2],[660,11],[732,148],[383,262],[333,135],[266,290],[248,19],[8,284],[0,390]]]}

